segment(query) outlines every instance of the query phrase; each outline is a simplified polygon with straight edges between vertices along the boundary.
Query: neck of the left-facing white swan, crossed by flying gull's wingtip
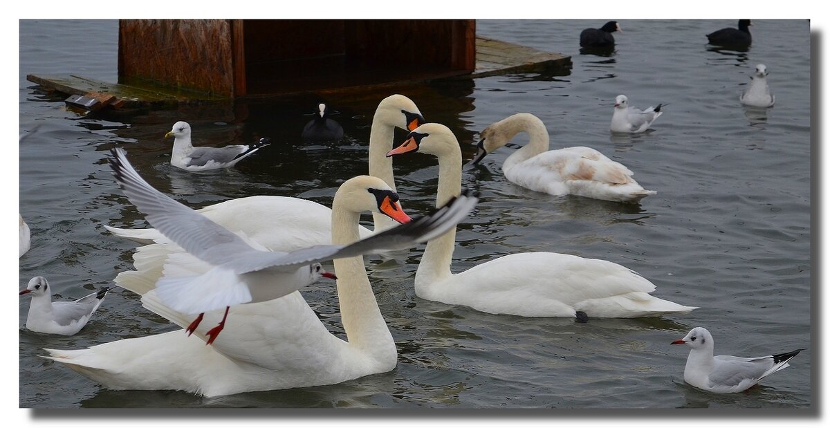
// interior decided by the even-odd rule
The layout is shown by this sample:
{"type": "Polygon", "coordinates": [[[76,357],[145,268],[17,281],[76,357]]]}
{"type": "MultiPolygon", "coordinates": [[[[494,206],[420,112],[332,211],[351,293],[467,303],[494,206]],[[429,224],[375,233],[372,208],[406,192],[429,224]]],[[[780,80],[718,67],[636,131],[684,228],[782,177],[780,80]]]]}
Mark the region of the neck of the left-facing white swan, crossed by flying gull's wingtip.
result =
{"type": "MultiPolygon", "coordinates": [[[[452,153],[438,156],[438,195],[436,207],[442,207],[461,193],[461,148],[455,143],[452,153]]],[[[456,228],[427,242],[415,273],[415,294],[428,295],[429,287],[452,276],[452,253],[456,246],[456,228]]],[[[438,285],[440,286],[440,285],[438,285]]]]}

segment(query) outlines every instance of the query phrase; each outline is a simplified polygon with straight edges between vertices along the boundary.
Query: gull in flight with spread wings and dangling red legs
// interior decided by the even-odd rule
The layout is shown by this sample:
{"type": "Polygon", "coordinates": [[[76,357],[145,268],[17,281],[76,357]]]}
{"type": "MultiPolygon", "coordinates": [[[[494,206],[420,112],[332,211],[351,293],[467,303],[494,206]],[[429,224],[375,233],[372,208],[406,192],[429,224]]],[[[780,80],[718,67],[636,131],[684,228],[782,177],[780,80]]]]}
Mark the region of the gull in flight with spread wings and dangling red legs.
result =
{"type": "MultiPolygon", "coordinates": [[[[378,250],[403,250],[440,236],[461,221],[477,201],[474,197],[461,197],[461,202],[453,207],[447,204],[432,216],[411,221],[403,213],[397,193],[377,186],[364,186],[365,194],[356,194],[355,197],[373,197],[380,212],[408,224],[348,246],[311,246],[289,253],[269,251],[150,186],[129,164],[124,150],[113,149],[112,153],[114,156],[110,158],[110,165],[129,201],[144,212],[147,221],[170,241],[212,266],[202,275],[165,275],[156,285],[159,299],[169,308],[183,314],[199,314],[188,327],[188,333],[198,327],[205,312],[225,309],[222,321],[207,332],[208,344],[222,331],[230,306],[277,299],[319,278],[315,275],[330,275],[320,270],[320,261],[378,250]]],[[[372,178],[358,178],[356,181],[383,184],[381,180],[373,181],[372,178]]],[[[330,277],[334,278],[334,275],[330,277]]]]}

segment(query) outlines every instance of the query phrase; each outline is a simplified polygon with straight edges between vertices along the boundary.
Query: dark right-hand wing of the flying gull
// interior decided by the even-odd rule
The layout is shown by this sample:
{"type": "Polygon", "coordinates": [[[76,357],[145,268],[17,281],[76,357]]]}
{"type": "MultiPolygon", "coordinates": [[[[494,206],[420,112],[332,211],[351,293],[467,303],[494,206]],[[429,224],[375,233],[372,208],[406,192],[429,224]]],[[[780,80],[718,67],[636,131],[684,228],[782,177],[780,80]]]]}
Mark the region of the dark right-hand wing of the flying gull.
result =
{"type": "Polygon", "coordinates": [[[403,250],[419,242],[429,241],[436,236],[447,233],[452,227],[464,219],[473,207],[476,207],[477,197],[467,196],[466,192],[454,197],[443,207],[406,224],[395,226],[392,229],[369,236],[364,240],[354,242],[348,246],[311,246],[282,255],[234,256],[233,270],[237,274],[244,274],[266,268],[277,270],[291,270],[300,265],[308,265],[318,261],[342,259],[354,255],[364,255],[381,250],[403,250]]]}

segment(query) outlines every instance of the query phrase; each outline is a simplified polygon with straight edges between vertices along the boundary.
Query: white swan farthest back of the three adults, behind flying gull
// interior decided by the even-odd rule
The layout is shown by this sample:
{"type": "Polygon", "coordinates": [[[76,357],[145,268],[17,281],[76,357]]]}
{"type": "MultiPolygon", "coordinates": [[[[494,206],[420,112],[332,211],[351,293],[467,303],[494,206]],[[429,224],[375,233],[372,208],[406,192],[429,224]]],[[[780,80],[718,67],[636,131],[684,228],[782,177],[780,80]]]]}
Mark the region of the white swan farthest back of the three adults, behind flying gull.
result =
{"type": "MultiPolygon", "coordinates": [[[[386,158],[386,153],[392,149],[394,130],[396,127],[412,130],[423,122],[421,112],[406,96],[390,95],[383,99],[375,110],[369,134],[369,175],[383,179],[394,190],[392,159],[386,158]]],[[[204,207],[198,212],[230,231],[245,233],[269,250],[296,250],[315,244],[329,244],[331,239],[329,207],[298,197],[241,197],[204,207]]],[[[378,231],[397,224],[383,215],[373,214],[373,219],[378,231]]],[[[155,229],[105,228],[115,236],[144,245],[166,242],[155,229]]],[[[360,226],[361,237],[371,233],[360,226]]]]}

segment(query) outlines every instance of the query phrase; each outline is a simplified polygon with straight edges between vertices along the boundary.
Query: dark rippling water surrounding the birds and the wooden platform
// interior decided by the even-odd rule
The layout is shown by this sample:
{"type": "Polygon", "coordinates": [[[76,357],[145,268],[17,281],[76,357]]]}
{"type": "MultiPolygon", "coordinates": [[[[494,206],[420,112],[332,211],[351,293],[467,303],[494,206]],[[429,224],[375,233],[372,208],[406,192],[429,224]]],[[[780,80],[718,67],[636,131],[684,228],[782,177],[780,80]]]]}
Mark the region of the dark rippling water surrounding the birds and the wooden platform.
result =
{"type": "MultiPolygon", "coordinates": [[[[398,344],[393,371],[327,387],[203,398],[183,392],[113,392],[41,348],[83,348],[176,327],[149,313],[135,294],[110,293],[74,337],[22,328],[22,407],[807,407],[811,353],[747,393],[712,395],[683,382],[686,348],[669,343],[695,326],[712,332],[715,353],[760,356],[810,343],[810,41],[806,21],[754,21],[746,52],[707,48],[707,32],[730,21],[623,21],[609,56],[579,53],[579,32],[603,22],[479,21],[477,32],[573,56],[569,75],[554,72],[445,80],[394,88],[428,121],[449,126],[468,161],[477,132],[517,112],[547,125],[551,148],[585,145],[636,173],[657,195],[640,205],[551,197],[506,181],[511,144],[467,168],[463,182],[481,192],[461,224],[453,270],[529,250],[611,260],[657,285],[654,293],[700,306],[662,319],[521,318],[419,299],[413,277],[423,246],[405,260],[367,257],[378,304],[398,344]],[[655,36],[658,35],[658,36],[655,36]],[[774,108],[744,109],[738,95],[764,63],[774,108]],[[613,100],[669,103],[653,132],[612,136],[613,100]]],[[[44,275],[63,299],[109,285],[132,269],[132,248],[103,225],[144,226],[106,164],[123,147],[162,192],[192,207],[255,194],[330,204],[339,183],[366,173],[369,125],[391,90],[332,96],[346,137],[337,145],[300,142],[319,102],[313,96],[236,105],[179,106],[105,114],[68,111],[62,97],[37,90],[26,75],[66,74],[117,80],[115,21],[22,21],[20,25],[20,212],[32,250],[20,259],[19,285],[44,275]],[[207,144],[275,141],[229,171],[188,173],[169,165],[177,120],[207,144]]],[[[403,136],[398,135],[398,139],[403,136]]],[[[524,143],[525,136],[516,142],[524,143]]],[[[396,158],[398,191],[410,212],[434,204],[437,163],[396,158]]],[[[368,221],[369,217],[364,217],[368,221]]],[[[342,337],[334,287],[302,290],[342,337]]]]}

